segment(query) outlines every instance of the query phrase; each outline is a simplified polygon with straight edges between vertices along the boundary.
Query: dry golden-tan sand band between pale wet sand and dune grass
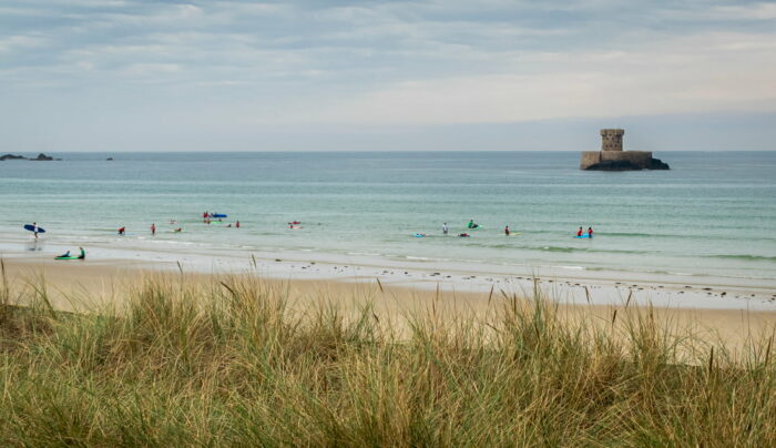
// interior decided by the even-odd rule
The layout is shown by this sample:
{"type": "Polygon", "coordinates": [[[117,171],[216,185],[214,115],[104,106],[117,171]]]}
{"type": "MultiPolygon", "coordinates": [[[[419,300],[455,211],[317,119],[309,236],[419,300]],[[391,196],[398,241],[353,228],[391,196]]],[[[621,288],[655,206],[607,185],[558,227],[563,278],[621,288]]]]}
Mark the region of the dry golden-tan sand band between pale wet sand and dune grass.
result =
{"type": "MultiPolygon", "coordinates": [[[[86,261],[60,263],[53,259],[3,258],[3,271],[12,296],[22,297],[35,291],[45,291],[47,301],[57,310],[76,313],[101,313],[122,309],[127,294],[147,281],[164,278],[196,287],[221,287],[233,275],[254,276],[267,291],[285,292],[292,308],[299,313],[329,302],[346,314],[358,314],[365,304],[371,304],[379,320],[395,328],[405,328],[407,315],[413,313],[439,313],[450,318],[473,318],[487,322],[498,318],[502,307],[512,299],[531,301],[530,291],[507,293],[494,289],[456,289],[442,282],[429,287],[402,283],[386,283],[375,277],[360,278],[278,278],[266,277],[261,271],[243,273],[201,273],[178,271],[177,265],[137,261],[86,261]],[[80,264],[79,264],[80,263],[80,264]],[[44,287],[41,289],[41,287],[44,287]],[[20,295],[17,295],[20,294],[20,295]]],[[[379,278],[379,277],[378,277],[379,278]]],[[[165,282],[166,282],[165,281],[165,282]]],[[[747,344],[776,332],[776,307],[690,307],[676,304],[658,304],[640,301],[634,294],[630,302],[586,303],[559,299],[543,286],[542,297],[557,306],[559,315],[569,325],[588,323],[601,329],[609,328],[617,316],[622,322],[634,316],[654,316],[661,327],[668,332],[692,332],[707,343],[722,343],[736,353],[747,349],[747,344]],[[630,316],[630,317],[629,317],[630,316]],[[625,320],[623,320],[625,319],[625,320]]],[[[133,293],[134,292],[134,293],[133,293]]],[[[24,305],[24,303],[11,304],[24,305]]],[[[682,305],[682,304],[680,304],[682,305]]],[[[637,318],[637,317],[636,317],[637,318]]]]}

